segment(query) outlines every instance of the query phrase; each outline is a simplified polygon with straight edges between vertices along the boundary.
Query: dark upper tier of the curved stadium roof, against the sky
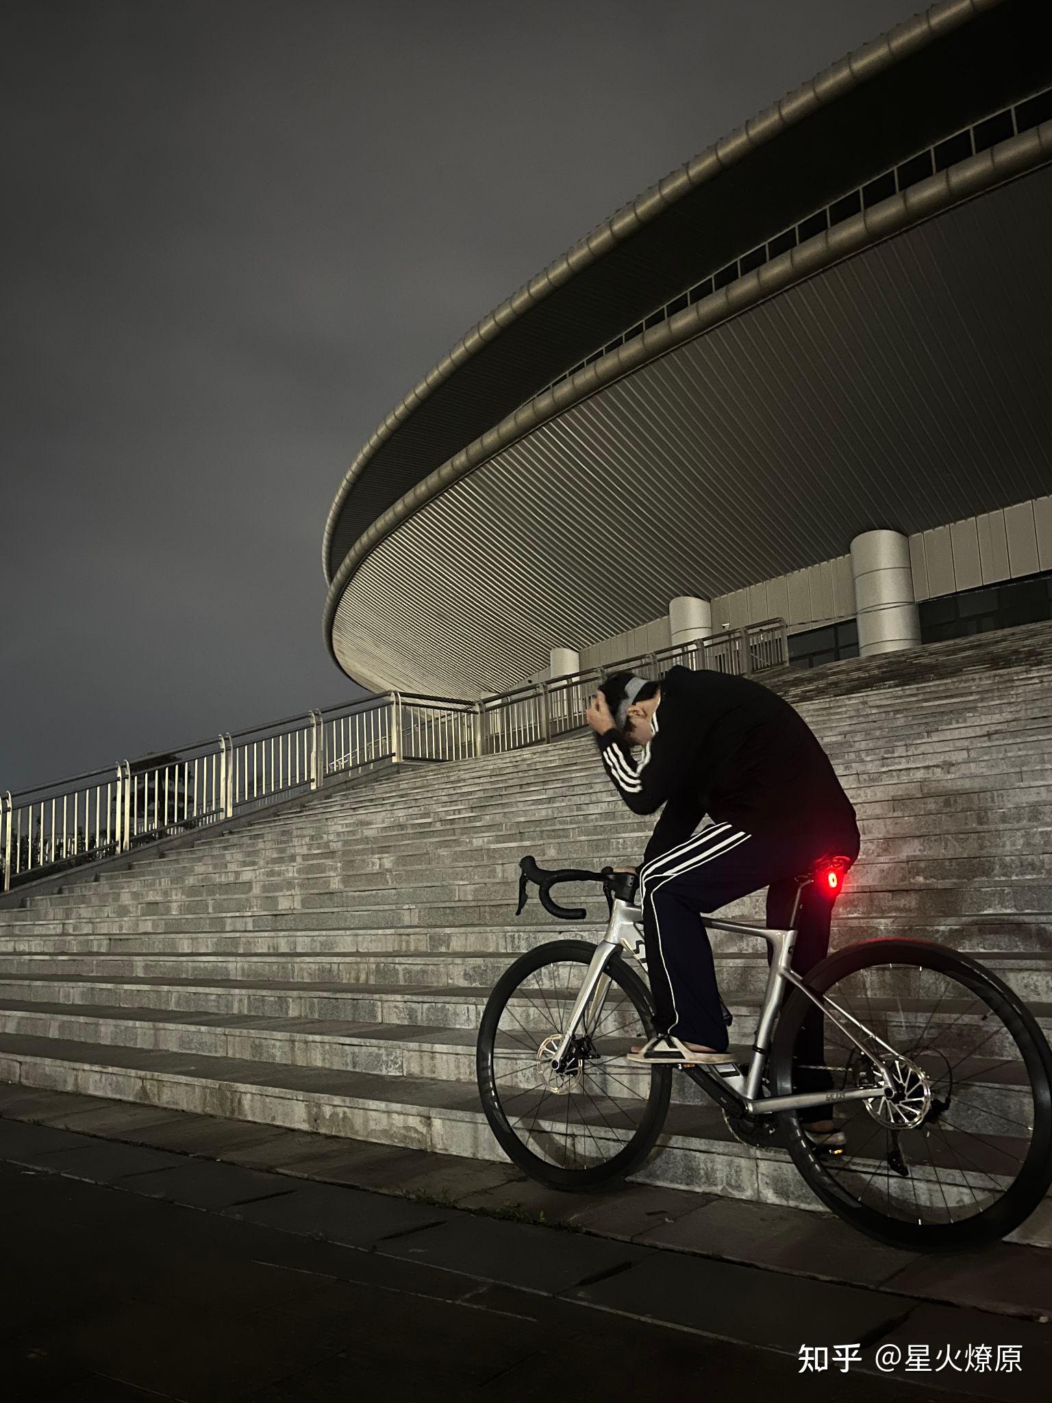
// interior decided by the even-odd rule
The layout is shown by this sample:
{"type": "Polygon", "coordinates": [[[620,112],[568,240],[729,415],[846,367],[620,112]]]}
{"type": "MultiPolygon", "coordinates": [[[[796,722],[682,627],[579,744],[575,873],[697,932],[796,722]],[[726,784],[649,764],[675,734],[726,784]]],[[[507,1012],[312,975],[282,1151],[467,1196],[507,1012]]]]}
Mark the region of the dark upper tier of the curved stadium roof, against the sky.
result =
{"type": "Polygon", "coordinates": [[[1044,88],[1051,52],[1048,0],[948,0],[670,173],[484,318],[499,333],[468,333],[384,421],[337,494],[327,578],[393,502],[555,376],[804,215],[1044,88]]]}

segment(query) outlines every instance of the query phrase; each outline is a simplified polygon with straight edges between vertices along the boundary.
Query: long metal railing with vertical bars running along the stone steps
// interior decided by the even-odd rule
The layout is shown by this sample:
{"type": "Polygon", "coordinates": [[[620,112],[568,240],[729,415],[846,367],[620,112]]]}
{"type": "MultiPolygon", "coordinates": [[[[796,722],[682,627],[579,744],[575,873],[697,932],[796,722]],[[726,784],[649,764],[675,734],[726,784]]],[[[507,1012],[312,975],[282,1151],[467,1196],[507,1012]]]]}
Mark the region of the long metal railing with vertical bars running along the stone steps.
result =
{"type": "Polygon", "coordinates": [[[389,692],[7,791],[0,891],[310,793],[380,760],[466,760],[554,741],[586,724],[591,697],[614,672],[656,682],[675,664],[739,676],[783,666],[787,633],[783,619],[769,619],[481,702],[389,692]]]}

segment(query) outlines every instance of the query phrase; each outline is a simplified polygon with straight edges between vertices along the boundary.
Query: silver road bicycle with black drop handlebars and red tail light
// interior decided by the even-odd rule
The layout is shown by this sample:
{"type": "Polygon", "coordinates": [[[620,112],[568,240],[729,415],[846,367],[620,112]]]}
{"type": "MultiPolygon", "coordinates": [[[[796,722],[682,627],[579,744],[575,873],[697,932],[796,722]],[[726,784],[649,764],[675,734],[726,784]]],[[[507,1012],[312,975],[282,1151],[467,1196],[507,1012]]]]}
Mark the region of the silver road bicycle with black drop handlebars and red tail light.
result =
{"type": "Polygon", "coordinates": [[[784,930],[701,918],[710,929],[763,939],[769,972],[752,1056],[742,1061],[745,1049],[732,1045],[725,1063],[680,1068],[626,1059],[630,1044],[658,1031],[638,875],[546,871],[533,857],[519,866],[519,912],[530,882],[562,920],[588,912],[551,898],[560,882],[602,882],[609,909],[598,944],[529,950],[483,1013],[483,1108],[530,1177],[582,1191],[617,1183],[642,1166],[662,1131],[666,1150],[706,1153],[697,1104],[677,1094],[670,1106],[673,1070],[683,1070],[722,1111],[704,1127],[710,1143],[729,1150],[734,1136],[762,1157],[787,1152],[822,1204],[881,1242],[913,1251],[975,1247],[1013,1232],[1044,1198],[1052,1051],[1002,979],[947,946],[899,937],[837,950],[807,978],[791,968],[804,888],[818,884],[835,898],[847,859],[823,857],[797,877],[784,930]],[[843,1145],[808,1135],[798,1113],[815,1107],[836,1107],[843,1145]]]}

